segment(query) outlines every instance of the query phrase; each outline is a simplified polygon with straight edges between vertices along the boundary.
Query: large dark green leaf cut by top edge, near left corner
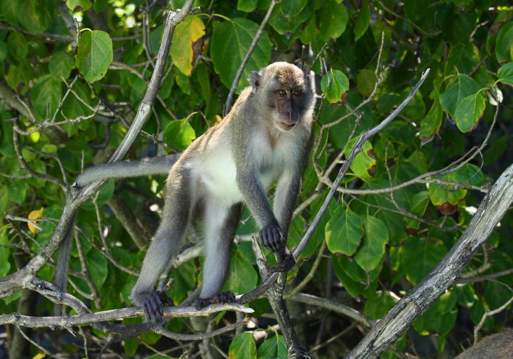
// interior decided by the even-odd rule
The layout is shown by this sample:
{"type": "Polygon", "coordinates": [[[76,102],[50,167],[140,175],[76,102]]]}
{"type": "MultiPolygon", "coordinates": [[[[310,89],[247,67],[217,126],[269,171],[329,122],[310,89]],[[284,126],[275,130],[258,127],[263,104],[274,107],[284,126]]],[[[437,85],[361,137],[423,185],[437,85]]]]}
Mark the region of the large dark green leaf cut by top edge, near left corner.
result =
{"type": "Polygon", "coordinates": [[[18,0],[18,20],[27,30],[44,32],[53,20],[55,0],[18,0]]]}

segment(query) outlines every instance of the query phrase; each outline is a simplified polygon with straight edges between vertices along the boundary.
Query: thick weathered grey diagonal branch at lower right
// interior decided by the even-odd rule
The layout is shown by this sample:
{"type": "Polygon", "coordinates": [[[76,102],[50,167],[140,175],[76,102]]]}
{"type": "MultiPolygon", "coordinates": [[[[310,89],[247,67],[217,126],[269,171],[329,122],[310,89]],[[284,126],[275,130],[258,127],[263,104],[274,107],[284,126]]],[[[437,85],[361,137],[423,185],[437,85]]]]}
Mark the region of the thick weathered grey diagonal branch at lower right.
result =
{"type": "Polygon", "coordinates": [[[484,197],[458,242],[435,268],[369,331],[349,353],[347,359],[375,358],[408,329],[440,294],[455,283],[512,202],[513,165],[510,165],[484,197]]]}

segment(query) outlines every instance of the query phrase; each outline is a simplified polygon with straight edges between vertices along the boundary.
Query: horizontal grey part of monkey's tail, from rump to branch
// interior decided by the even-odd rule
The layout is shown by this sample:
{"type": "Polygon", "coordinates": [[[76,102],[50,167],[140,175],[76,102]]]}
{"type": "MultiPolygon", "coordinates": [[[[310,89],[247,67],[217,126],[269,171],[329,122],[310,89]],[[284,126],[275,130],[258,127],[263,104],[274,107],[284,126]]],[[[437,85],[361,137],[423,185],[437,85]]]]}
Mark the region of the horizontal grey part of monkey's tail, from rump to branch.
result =
{"type": "Polygon", "coordinates": [[[120,161],[104,163],[87,168],[78,175],[76,184],[78,187],[109,179],[121,179],[127,177],[139,177],[150,175],[167,175],[173,164],[181,154],[172,154],[159,157],[146,157],[137,161],[120,161]]]}

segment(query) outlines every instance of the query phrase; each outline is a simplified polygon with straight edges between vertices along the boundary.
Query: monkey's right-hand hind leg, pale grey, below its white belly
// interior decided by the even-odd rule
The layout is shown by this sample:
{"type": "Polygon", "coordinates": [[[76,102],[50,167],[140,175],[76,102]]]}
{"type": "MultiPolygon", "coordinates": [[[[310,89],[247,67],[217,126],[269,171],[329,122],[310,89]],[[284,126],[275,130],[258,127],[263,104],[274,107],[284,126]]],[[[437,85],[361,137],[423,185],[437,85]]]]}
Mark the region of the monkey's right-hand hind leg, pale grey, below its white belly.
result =
{"type": "Polygon", "coordinates": [[[203,282],[200,298],[194,306],[200,310],[212,303],[231,303],[235,295],[226,291],[221,293],[230,268],[230,251],[235,231],[242,215],[242,203],[229,207],[215,199],[206,202],[204,214],[204,238],[206,257],[203,263],[203,282]]]}

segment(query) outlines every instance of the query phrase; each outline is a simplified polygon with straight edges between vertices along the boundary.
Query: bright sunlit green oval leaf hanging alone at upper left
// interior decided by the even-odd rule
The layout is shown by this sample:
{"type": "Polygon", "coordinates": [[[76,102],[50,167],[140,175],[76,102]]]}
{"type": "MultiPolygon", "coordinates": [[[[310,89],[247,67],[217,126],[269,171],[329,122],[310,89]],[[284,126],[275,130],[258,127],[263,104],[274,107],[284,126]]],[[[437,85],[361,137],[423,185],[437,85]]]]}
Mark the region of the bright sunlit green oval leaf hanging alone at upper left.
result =
{"type": "Polygon", "coordinates": [[[99,30],[84,31],[78,39],[75,66],[86,81],[103,78],[111,62],[112,40],[109,34],[99,30]]]}

